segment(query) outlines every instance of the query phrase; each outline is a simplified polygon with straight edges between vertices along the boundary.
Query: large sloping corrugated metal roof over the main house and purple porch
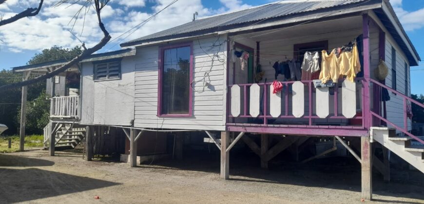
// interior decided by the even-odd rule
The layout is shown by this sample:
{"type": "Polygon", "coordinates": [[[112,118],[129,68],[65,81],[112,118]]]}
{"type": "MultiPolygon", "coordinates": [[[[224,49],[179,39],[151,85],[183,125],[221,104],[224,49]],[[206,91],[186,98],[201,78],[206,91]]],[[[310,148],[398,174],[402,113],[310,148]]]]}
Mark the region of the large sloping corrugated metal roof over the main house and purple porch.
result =
{"type": "Polygon", "coordinates": [[[282,1],[277,3],[265,4],[262,6],[254,7],[237,12],[201,18],[180,26],[176,26],[155,34],[150,34],[144,37],[137,38],[125,43],[121,46],[132,46],[141,42],[152,41],[155,39],[172,39],[176,35],[190,34],[199,31],[211,30],[221,31],[229,27],[245,26],[248,23],[262,21],[264,19],[272,19],[278,17],[286,17],[294,14],[306,13],[317,11],[321,9],[343,7],[346,5],[354,6],[355,4],[362,4],[369,0],[302,0],[302,1],[282,1]]]}

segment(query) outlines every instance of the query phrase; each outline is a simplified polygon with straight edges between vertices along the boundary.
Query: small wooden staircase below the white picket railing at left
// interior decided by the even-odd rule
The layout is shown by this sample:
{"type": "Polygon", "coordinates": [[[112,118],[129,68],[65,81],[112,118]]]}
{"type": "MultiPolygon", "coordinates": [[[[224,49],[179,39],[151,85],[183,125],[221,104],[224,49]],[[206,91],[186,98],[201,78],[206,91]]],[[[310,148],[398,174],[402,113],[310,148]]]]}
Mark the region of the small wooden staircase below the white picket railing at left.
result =
{"type": "MultiPolygon", "coordinates": [[[[45,131],[45,149],[47,149],[47,142],[50,141],[48,133],[49,130],[45,131]]],[[[55,136],[55,147],[75,148],[85,137],[85,127],[77,127],[77,125],[71,123],[60,123],[58,124],[58,130],[53,135],[55,136]]]]}

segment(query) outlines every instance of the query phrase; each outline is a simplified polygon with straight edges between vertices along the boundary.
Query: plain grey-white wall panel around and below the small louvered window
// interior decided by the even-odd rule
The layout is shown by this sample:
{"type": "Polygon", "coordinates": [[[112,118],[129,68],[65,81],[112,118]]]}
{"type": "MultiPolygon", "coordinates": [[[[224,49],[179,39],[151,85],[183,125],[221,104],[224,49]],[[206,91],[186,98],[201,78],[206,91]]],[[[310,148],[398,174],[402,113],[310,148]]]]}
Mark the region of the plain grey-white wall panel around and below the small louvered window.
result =
{"type": "Polygon", "coordinates": [[[81,124],[131,125],[134,119],[134,57],[121,61],[121,79],[93,81],[93,64],[82,64],[81,124]]]}

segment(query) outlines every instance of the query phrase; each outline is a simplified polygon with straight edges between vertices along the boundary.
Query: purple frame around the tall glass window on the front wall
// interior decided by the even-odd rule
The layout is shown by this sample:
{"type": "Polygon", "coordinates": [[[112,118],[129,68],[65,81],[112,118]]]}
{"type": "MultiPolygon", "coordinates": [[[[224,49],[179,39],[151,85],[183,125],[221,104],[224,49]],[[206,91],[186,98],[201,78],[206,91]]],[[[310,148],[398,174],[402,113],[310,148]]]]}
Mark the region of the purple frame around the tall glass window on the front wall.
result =
{"type": "Polygon", "coordinates": [[[159,46],[158,57],[158,83],[157,83],[157,117],[193,117],[193,42],[182,42],[159,46]],[[190,84],[189,84],[189,113],[187,114],[162,114],[162,74],[164,70],[165,50],[190,47],[190,84]]]}

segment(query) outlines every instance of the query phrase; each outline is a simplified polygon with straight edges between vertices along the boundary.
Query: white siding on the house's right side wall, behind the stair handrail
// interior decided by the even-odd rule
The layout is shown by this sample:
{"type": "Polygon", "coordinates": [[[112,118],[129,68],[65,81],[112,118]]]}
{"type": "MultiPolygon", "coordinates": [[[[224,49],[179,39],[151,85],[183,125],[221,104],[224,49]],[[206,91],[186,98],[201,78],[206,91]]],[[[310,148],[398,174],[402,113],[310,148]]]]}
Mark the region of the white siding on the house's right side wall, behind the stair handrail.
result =
{"type": "MultiPolygon", "coordinates": [[[[385,63],[389,69],[388,76],[386,77],[385,84],[389,87],[392,86],[392,47],[396,50],[396,90],[404,93],[405,92],[405,62],[408,64],[403,52],[393,46],[393,43],[386,37],[385,40],[385,63]]],[[[408,64],[409,69],[409,64],[408,64]]],[[[407,77],[407,85],[409,86],[408,92],[410,92],[410,77],[407,77]]],[[[390,101],[386,102],[387,119],[393,122],[399,127],[404,127],[404,102],[403,98],[395,94],[390,93],[390,101]]],[[[408,119],[408,129],[411,129],[411,120],[408,119]]],[[[397,131],[399,133],[399,131],[397,131]]]]}

